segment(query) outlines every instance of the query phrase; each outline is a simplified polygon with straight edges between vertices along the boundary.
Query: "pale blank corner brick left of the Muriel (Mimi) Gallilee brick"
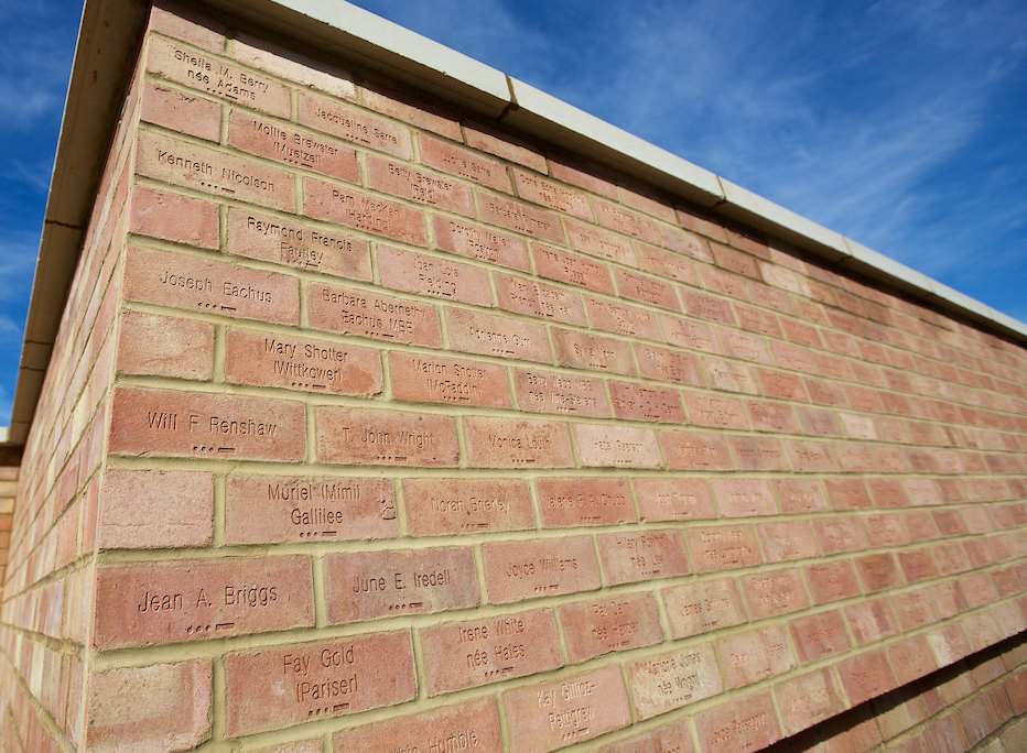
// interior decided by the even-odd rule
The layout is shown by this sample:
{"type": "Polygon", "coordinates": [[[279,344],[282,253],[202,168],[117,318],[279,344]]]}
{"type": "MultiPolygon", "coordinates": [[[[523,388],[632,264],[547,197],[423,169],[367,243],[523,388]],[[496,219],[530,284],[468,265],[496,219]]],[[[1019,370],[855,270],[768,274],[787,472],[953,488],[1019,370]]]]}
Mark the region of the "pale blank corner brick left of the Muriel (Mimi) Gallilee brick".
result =
{"type": "Polygon", "coordinates": [[[210,473],[110,468],[104,476],[102,495],[96,532],[100,548],[172,548],[210,543],[210,473]]]}

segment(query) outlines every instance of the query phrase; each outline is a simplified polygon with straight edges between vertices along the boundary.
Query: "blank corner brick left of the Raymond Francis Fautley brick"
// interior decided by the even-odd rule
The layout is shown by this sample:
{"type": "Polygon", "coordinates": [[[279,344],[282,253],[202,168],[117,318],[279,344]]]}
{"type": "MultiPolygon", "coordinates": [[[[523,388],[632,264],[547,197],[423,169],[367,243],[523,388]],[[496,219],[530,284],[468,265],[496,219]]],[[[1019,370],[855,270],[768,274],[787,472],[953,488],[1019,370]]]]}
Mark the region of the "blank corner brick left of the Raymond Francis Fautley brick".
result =
{"type": "Polygon", "coordinates": [[[147,186],[132,189],[130,232],[161,240],[216,249],[217,205],[147,186]]]}

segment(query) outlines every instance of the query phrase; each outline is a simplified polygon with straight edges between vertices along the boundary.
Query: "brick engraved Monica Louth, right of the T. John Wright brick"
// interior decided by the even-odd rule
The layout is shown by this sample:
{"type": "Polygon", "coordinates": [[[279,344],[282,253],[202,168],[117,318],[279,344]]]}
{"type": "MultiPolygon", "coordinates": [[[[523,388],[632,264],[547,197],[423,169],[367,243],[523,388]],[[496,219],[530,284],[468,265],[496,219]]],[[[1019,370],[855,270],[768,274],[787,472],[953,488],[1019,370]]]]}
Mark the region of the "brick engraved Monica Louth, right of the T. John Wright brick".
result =
{"type": "Polygon", "coordinates": [[[564,424],[549,421],[466,417],[472,468],[570,468],[574,465],[564,424]]]}

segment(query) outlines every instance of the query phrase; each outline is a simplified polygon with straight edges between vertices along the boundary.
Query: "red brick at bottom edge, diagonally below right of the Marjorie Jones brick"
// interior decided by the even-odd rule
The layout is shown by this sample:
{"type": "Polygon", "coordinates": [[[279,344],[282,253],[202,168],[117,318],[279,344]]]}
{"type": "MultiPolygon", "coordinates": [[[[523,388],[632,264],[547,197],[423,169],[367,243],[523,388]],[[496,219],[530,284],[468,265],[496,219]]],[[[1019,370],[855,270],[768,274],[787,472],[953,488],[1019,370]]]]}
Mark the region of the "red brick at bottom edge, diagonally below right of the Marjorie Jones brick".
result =
{"type": "Polygon", "coordinates": [[[704,753],[748,753],[781,736],[770,692],[734,698],[695,717],[704,753]]]}

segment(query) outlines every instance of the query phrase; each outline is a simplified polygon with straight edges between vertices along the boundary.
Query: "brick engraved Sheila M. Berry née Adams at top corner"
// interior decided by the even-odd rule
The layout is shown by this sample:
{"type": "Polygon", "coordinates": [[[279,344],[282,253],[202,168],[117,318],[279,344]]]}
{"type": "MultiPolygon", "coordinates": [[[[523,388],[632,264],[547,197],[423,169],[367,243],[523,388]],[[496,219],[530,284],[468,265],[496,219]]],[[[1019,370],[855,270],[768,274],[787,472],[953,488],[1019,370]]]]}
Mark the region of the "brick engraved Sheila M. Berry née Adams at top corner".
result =
{"type": "Polygon", "coordinates": [[[249,68],[195,53],[177,42],[151,36],[147,70],[236,105],[289,117],[289,89],[284,86],[249,68]]]}

